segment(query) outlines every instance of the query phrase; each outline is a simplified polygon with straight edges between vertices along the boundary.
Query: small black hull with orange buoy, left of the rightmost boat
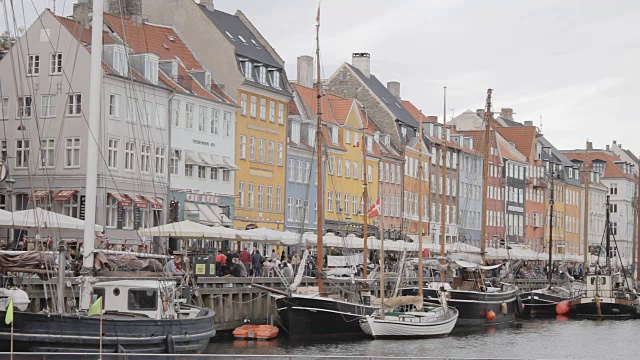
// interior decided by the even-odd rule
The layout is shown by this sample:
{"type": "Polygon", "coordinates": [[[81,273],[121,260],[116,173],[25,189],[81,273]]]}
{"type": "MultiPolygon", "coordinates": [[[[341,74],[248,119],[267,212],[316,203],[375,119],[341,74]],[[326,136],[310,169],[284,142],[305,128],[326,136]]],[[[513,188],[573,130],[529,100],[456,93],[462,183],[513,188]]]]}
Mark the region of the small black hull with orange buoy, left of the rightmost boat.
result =
{"type": "Polygon", "coordinates": [[[575,299],[550,293],[548,289],[524,292],[519,295],[519,298],[522,302],[522,310],[518,315],[523,318],[568,316],[571,311],[570,302],[575,299]]]}

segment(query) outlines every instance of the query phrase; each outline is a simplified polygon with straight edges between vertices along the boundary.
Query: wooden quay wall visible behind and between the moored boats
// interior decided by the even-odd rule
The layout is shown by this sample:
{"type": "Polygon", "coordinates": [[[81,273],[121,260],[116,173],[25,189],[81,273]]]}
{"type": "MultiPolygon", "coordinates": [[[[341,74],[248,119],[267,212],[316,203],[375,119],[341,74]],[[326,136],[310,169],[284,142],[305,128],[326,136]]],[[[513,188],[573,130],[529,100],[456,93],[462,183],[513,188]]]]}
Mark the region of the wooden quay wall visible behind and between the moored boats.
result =
{"type": "MultiPolygon", "coordinates": [[[[117,280],[118,278],[109,278],[117,280]]],[[[130,279],[130,278],[129,278],[130,279]]],[[[70,303],[78,304],[78,285],[77,278],[68,278],[65,287],[65,303],[67,309],[71,308],[70,303]]],[[[288,278],[288,282],[292,282],[293,278],[288,278]]],[[[426,278],[425,282],[438,281],[439,279],[426,278]]],[[[52,279],[55,283],[56,279],[52,279]]],[[[387,288],[391,289],[397,282],[395,277],[385,278],[387,288]]],[[[556,280],[554,280],[555,284],[556,280]]],[[[25,278],[20,282],[16,282],[25,290],[31,299],[30,310],[40,311],[47,308],[54,308],[51,296],[51,290],[45,291],[45,283],[39,278],[25,278]]],[[[200,277],[196,280],[197,290],[194,289],[193,296],[198,305],[207,307],[215,311],[215,328],[218,331],[230,331],[238,326],[242,326],[245,320],[255,324],[273,323],[279,324],[277,317],[277,309],[275,307],[274,298],[271,292],[263,287],[271,288],[276,291],[286,291],[286,286],[278,277],[254,277],[254,278],[236,278],[236,277],[200,277]],[[258,288],[257,286],[260,286],[258,288]],[[201,301],[201,303],[200,303],[201,301]]],[[[352,294],[358,290],[350,278],[331,278],[325,281],[325,289],[331,297],[346,298],[348,294],[352,294]]],[[[373,296],[379,297],[378,280],[369,284],[373,296]]],[[[417,278],[408,278],[402,281],[404,286],[416,286],[417,278]]],[[[521,291],[529,291],[541,289],[548,285],[547,280],[516,280],[516,285],[521,291]]],[[[316,279],[303,277],[299,288],[306,286],[316,286],[316,279]]]]}

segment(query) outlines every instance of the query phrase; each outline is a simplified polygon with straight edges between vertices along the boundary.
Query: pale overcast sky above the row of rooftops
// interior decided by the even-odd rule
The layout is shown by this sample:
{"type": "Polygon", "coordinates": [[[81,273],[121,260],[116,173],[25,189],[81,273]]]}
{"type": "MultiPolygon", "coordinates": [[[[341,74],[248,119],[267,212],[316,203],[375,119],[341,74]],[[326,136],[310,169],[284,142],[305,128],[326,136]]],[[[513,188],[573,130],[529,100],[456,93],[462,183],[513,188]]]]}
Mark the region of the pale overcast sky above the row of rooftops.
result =
{"type": "MultiPolygon", "coordinates": [[[[210,0],[202,0],[210,1],[210,0]]],[[[2,0],[0,0],[2,2],[2,0]]],[[[30,25],[53,0],[17,0],[30,25]]],[[[57,12],[72,0],[57,0],[57,12]]],[[[296,78],[299,55],[315,49],[316,0],[216,0],[242,10],[296,78]]],[[[0,16],[5,29],[4,14],[0,16]]],[[[353,52],[371,54],[381,81],[399,81],[401,97],[425,114],[511,107],[558,148],[602,147],[613,140],[640,154],[640,1],[637,0],[323,0],[323,76],[353,52]]]]}

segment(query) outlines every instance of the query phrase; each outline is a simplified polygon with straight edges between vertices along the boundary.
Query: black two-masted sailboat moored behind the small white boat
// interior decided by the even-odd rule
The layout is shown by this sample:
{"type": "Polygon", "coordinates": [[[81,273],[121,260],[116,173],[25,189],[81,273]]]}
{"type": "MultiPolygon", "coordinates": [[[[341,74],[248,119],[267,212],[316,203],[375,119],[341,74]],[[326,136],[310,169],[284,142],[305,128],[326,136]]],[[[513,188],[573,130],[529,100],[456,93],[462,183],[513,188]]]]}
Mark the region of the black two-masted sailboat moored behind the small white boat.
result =
{"type": "MultiPolygon", "coordinates": [[[[446,91],[446,88],[445,88],[446,91]]],[[[488,182],[487,177],[489,173],[489,132],[491,130],[491,121],[493,115],[491,113],[491,93],[492,90],[487,90],[487,103],[485,110],[485,151],[484,151],[484,181],[483,181],[483,198],[487,198],[488,194],[488,182]]],[[[446,126],[446,92],[445,92],[445,121],[446,126]]],[[[442,156],[442,178],[446,179],[446,167],[445,167],[445,152],[446,142],[443,140],[442,156]]],[[[442,199],[442,213],[445,213],[444,204],[446,182],[443,181],[443,199],[442,199]]],[[[486,219],[487,202],[482,203],[482,219],[486,219]]],[[[448,261],[445,259],[445,231],[444,231],[444,216],[442,217],[442,229],[440,239],[440,282],[434,282],[428,285],[424,289],[420,287],[409,287],[402,290],[403,295],[416,295],[420,293],[420,290],[424,293],[425,303],[437,303],[440,300],[441,289],[447,290],[448,303],[450,306],[455,307],[459,311],[457,326],[488,326],[488,325],[501,325],[508,324],[515,321],[515,314],[518,307],[518,288],[512,284],[496,282],[494,284],[488,283],[485,279],[484,272],[488,270],[494,270],[500,266],[483,266],[466,261],[448,261]],[[452,284],[446,283],[444,279],[445,269],[457,270],[458,276],[454,277],[452,284]]],[[[482,235],[481,235],[481,252],[484,260],[486,237],[485,231],[486,222],[482,221],[482,235]]]]}

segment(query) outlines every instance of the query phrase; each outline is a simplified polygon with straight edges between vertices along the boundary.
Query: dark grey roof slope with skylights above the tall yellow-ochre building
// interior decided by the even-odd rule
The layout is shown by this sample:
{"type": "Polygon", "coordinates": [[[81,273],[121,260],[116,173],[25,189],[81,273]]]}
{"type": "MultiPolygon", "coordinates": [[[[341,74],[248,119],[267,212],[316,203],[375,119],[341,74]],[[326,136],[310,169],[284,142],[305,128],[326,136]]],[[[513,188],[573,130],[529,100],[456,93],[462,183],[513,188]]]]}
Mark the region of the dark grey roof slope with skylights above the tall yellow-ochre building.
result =
{"type": "Polygon", "coordinates": [[[273,67],[281,68],[280,64],[271,56],[269,51],[260,43],[258,37],[236,15],[227,14],[220,10],[209,11],[204,5],[200,10],[209,18],[224,37],[236,48],[236,54],[260,61],[273,67]],[[231,34],[233,39],[228,35],[231,34]],[[245,40],[240,39],[240,36],[245,40]],[[255,42],[255,44],[254,44],[255,42]]]}

